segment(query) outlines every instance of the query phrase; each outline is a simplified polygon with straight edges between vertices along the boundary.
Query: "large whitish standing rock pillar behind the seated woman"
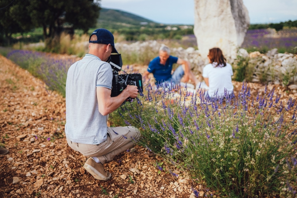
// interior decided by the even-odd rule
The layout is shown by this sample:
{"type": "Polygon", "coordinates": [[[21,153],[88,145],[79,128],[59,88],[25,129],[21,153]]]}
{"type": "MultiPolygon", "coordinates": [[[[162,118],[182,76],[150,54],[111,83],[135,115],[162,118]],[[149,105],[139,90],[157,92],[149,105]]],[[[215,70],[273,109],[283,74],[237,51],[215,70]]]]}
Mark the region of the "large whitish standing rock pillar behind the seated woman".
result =
{"type": "Polygon", "coordinates": [[[249,28],[249,15],[242,0],[194,0],[194,34],[198,50],[207,61],[208,50],[219,47],[227,59],[236,58],[249,28]]]}

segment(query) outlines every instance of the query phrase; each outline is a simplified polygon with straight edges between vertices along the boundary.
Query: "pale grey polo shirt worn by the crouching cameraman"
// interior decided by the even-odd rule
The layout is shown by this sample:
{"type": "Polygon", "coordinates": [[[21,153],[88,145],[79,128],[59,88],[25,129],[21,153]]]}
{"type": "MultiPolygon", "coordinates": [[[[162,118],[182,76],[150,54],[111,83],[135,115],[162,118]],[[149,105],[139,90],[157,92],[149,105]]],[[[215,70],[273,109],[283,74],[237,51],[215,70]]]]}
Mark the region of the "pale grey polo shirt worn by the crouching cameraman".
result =
{"type": "Polygon", "coordinates": [[[106,115],[98,110],[96,87],[111,89],[112,78],[110,64],[92,54],[68,69],[65,133],[72,142],[99,144],[106,140],[106,115]]]}

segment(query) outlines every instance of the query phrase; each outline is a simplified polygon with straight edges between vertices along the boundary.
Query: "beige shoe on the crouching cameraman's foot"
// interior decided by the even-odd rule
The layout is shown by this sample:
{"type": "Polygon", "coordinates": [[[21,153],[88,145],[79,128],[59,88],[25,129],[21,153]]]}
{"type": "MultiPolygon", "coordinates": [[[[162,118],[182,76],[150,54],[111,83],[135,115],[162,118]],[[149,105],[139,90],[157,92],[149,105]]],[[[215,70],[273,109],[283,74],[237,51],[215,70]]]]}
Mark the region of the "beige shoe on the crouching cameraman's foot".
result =
{"type": "Polygon", "coordinates": [[[97,180],[107,181],[111,177],[110,172],[104,170],[103,164],[97,163],[89,157],[83,167],[97,180]]]}

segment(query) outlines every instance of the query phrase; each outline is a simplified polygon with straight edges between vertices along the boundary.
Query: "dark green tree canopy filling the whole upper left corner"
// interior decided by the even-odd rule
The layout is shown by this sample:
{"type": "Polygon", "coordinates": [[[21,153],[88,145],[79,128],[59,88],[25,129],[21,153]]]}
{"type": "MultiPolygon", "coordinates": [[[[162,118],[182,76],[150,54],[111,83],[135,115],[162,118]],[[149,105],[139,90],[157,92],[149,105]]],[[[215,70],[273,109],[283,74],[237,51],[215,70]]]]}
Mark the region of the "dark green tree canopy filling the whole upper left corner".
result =
{"type": "MultiPolygon", "coordinates": [[[[1,0],[0,38],[42,27],[45,39],[53,38],[67,23],[87,32],[96,25],[100,0],[1,0]],[[11,3],[11,4],[10,4],[11,3]]],[[[0,40],[1,42],[1,40],[0,40]]]]}

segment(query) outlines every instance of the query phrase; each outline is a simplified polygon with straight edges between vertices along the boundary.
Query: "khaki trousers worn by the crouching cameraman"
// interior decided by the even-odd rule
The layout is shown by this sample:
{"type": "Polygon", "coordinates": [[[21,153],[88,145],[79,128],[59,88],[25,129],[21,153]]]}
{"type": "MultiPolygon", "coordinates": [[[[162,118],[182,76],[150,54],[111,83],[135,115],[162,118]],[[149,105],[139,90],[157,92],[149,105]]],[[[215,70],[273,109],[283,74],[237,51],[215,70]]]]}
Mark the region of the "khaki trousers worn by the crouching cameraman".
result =
{"type": "Polygon", "coordinates": [[[107,139],[98,145],[71,142],[67,136],[68,145],[75,151],[87,157],[98,157],[101,164],[108,162],[114,156],[133,147],[132,137],[139,140],[140,132],[132,126],[107,127],[107,139]],[[117,133],[115,133],[115,132],[117,133]],[[127,137],[127,139],[125,137],[127,137]]]}

